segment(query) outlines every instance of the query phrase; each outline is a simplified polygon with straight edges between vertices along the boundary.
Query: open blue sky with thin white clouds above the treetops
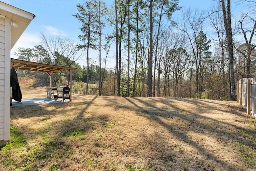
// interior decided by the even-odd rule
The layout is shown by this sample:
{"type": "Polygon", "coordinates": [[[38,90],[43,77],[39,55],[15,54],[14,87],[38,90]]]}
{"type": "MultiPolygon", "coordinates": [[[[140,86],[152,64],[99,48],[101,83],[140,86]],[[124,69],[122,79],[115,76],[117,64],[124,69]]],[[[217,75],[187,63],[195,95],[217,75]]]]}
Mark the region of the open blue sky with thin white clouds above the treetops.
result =
{"type": "MultiPolygon", "coordinates": [[[[30,12],[36,17],[22,34],[14,48],[11,50],[11,57],[18,52],[18,48],[33,48],[40,44],[41,32],[46,36],[65,36],[74,42],[80,43],[78,35],[81,33],[80,23],[72,16],[78,12],[76,4],[84,0],[2,0],[16,8],[30,12]]],[[[114,0],[104,0],[108,7],[114,0]]],[[[183,8],[207,9],[212,0],[179,0],[179,6],[183,8]]],[[[85,65],[84,61],[79,62],[85,65]]]]}

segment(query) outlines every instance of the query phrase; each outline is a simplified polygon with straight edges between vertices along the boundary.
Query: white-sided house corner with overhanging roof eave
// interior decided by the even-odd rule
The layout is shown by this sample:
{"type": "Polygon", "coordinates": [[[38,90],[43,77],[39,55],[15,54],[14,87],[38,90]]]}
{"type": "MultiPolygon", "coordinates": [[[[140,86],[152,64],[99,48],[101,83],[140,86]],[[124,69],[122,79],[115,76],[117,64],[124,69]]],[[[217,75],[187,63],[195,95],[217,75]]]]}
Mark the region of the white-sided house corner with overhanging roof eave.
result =
{"type": "Polygon", "coordinates": [[[0,9],[2,10],[1,14],[3,14],[0,14],[0,143],[2,143],[10,139],[11,47],[14,46],[15,42],[35,16],[1,1],[0,9]],[[11,18],[20,22],[18,29],[12,30],[11,18]]]}

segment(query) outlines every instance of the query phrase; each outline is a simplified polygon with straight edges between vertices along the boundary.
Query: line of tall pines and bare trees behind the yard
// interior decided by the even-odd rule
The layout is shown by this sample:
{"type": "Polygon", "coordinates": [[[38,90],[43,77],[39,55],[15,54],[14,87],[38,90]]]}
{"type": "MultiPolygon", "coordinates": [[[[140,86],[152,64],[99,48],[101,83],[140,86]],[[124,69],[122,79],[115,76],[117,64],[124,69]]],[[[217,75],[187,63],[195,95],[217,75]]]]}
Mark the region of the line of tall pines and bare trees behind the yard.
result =
{"type": "Polygon", "coordinates": [[[78,68],[74,81],[86,83],[86,94],[89,84],[98,84],[98,95],[235,99],[236,82],[256,76],[256,2],[232,3],[216,0],[200,11],[178,0],[114,0],[112,8],[86,0],[73,14],[82,43],[42,34],[42,45],[16,55],[78,68]],[[245,3],[248,12],[231,13],[245,3]],[[87,64],[81,67],[80,58],[87,64]],[[108,68],[113,58],[116,66],[108,68]]]}

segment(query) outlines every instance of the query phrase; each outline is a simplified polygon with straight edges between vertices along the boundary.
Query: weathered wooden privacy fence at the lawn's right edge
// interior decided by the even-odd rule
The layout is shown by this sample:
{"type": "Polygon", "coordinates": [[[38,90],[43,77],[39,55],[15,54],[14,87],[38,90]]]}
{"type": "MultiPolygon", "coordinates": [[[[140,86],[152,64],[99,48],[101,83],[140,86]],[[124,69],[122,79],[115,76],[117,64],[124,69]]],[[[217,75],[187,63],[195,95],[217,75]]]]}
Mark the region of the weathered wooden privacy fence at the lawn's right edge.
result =
{"type": "Polygon", "coordinates": [[[256,118],[256,78],[242,78],[237,82],[237,102],[256,118]]]}

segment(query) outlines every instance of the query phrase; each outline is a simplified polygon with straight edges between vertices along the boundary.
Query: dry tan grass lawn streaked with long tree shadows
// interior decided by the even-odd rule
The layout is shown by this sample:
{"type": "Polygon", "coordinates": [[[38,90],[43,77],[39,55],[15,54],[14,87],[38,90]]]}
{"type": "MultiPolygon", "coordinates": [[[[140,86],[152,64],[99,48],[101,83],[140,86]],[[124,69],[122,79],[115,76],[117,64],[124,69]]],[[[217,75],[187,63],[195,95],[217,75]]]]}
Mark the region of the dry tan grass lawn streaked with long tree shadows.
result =
{"type": "Polygon", "coordinates": [[[11,108],[1,170],[256,170],[256,120],[236,101],[72,97],[11,108]]]}

